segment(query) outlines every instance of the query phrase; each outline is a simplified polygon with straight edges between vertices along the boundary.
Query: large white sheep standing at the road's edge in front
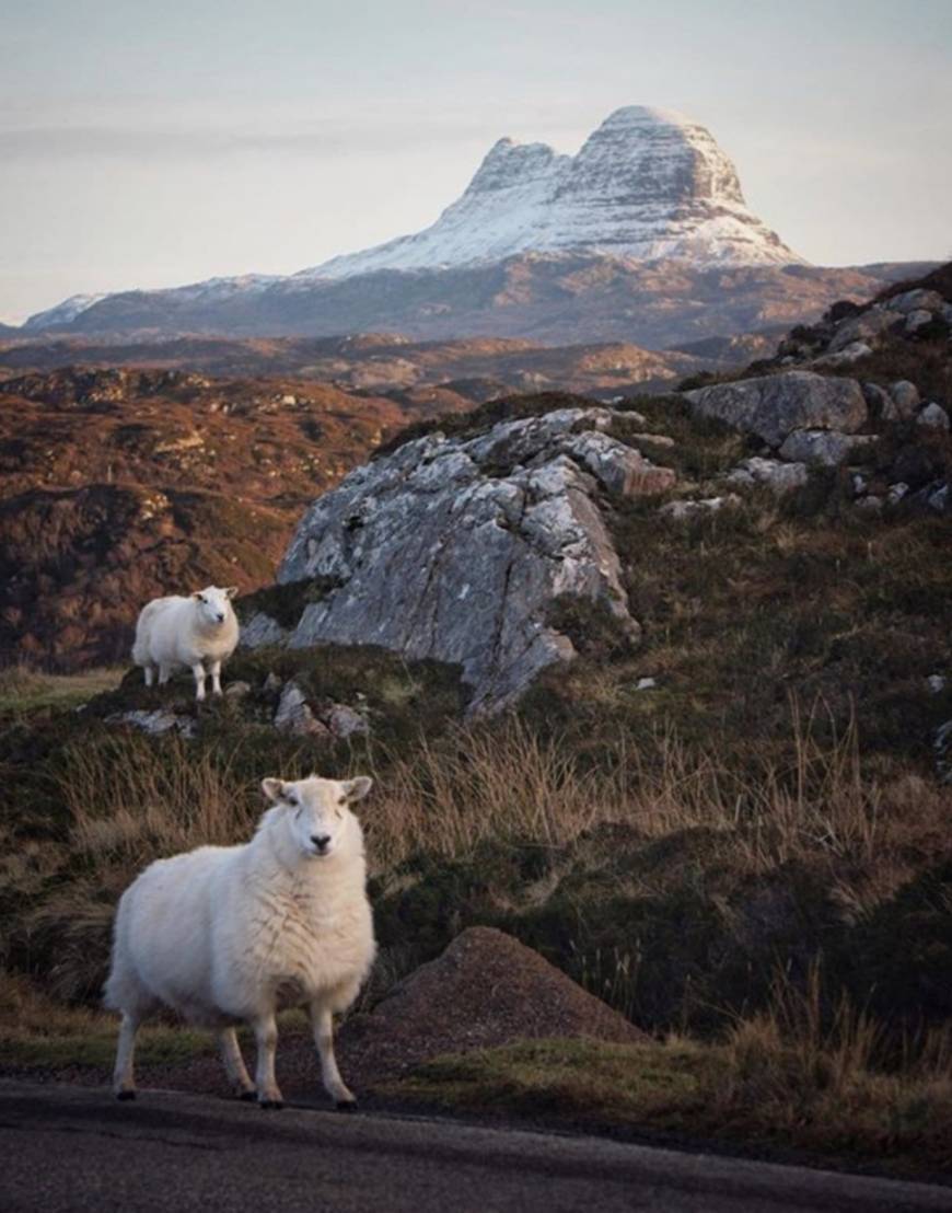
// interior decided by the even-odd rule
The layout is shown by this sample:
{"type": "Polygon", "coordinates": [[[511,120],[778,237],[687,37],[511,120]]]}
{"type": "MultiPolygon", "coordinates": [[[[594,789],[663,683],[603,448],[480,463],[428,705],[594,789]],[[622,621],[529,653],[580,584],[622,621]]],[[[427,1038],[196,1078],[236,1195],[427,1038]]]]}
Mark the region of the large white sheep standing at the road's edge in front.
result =
{"type": "Polygon", "coordinates": [[[119,1099],[135,1098],[136,1031],[165,1004],[217,1030],[243,1099],[280,1107],[275,1013],[306,1006],[324,1087],[338,1107],[355,1105],[334,1055],[332,1014],[354,1001],[376,952],[364,835],[350,811],[371,786],[366,776],[266,779],[273,807],[251,842],[156,860],[126,889],[104,997],[122,1015],[119,1099]],[[235,1036],[241,1021],[257,1042],[255,1084],[235,1036]]]}

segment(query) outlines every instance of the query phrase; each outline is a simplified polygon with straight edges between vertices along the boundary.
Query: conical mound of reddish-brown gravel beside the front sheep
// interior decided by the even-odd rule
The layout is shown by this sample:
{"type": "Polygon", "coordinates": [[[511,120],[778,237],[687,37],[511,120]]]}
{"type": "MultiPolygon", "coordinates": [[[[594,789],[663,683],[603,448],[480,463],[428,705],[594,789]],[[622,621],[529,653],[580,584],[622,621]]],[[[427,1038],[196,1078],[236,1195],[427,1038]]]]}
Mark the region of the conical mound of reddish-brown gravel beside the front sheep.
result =
{"type": "Polygon", "coordinates": [[[370,1013],[341,1027],[375,1074],[411,1069],[445,1053],[517,1040],[587,1038],[637,1043],[627,1019],[491,927],[469,927],[435,961],[399,981],[370,1013]]]}

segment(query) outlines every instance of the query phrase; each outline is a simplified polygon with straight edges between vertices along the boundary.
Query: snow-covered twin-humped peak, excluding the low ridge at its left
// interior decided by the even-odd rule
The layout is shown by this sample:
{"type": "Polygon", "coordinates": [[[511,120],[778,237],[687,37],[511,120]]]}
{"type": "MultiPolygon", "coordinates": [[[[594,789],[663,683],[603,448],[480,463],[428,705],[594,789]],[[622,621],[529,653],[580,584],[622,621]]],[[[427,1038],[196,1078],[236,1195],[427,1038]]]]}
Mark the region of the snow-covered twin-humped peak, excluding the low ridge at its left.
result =
{"type": "Polygon", "coordinates": [[[737,172],[709,131],[669,110],[627,106],[575,156],[546,143],[500,139],[432,227],[296,277],[580,251],[695,267],[803,262],[747,209],[737,172]]]}

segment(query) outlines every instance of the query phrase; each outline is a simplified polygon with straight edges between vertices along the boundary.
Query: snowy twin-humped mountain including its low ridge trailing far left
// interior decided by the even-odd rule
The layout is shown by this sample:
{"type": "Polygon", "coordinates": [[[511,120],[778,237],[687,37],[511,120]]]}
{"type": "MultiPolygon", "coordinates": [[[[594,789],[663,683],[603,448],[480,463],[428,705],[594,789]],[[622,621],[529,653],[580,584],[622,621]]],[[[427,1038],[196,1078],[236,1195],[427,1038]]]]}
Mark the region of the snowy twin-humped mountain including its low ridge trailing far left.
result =
{"type": "Polygon", "coordinates": [[[575,156],[546,143],[500,139],[463,195],[415,235],[286,278],[244,274],[172,290],[74,295],[32,315],[24,330],[235,331],[240,312],[240,331],[280,332],[325,284],[378,270],[418,274],[576,255],[635,266],[677,261],[695,270],[803,263],[747,209],[734,165],[703,126],[627,106],[575,156]]]}

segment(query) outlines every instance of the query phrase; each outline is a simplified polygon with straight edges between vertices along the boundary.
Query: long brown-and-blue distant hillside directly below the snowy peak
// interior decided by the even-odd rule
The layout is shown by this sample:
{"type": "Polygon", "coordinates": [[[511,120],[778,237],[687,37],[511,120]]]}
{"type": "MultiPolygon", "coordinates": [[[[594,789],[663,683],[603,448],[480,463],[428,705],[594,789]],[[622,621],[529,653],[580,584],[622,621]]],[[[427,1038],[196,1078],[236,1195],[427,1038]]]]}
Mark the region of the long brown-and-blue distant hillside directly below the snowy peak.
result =
{"type": "Polygon", "coordinates": [[[868,298],[916,272],[901,263],[697,268],[604,254],[520,254],[448,269],[375,269],[234,291],[220,284],[124,291],[76,314],[50,313],[23,335],[314,337],[397,330],[418,341],[626,341],[661,349],[815,320],[834,300],[868,298]]]}

